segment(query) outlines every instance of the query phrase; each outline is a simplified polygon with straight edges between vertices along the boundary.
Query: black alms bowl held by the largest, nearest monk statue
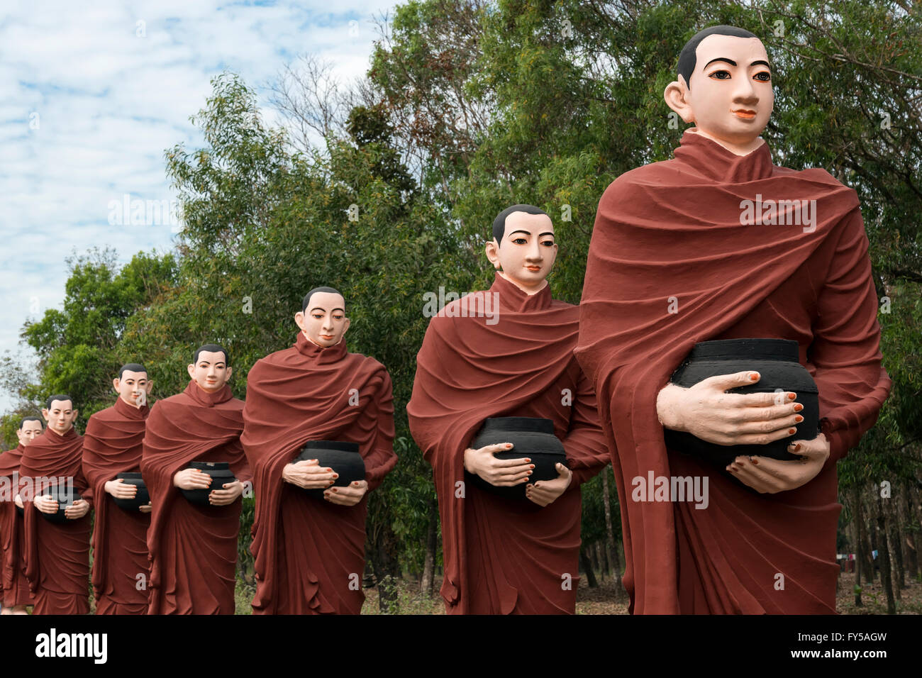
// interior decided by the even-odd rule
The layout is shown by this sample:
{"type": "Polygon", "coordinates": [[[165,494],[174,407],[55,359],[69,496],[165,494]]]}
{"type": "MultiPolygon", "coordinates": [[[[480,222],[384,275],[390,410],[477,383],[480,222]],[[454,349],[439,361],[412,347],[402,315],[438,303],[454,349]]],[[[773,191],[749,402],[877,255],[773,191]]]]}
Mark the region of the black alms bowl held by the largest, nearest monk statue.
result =
{"type": "Polygon", "coordinates": [[[731,375],[751,370],[761,378],[752,386],[732,388],[727,393],[776,393],[778,402],[789,402],[784,393],[797,394],[804,406],[798,414],[803,422],[793,424],[797,433],[766,445],[723,446],[708,443],[692,434],[666,429],[664,436],[670,449],[704,458],[721,467],[733,459],[759,456],[773,459],[798,459],[787,451],[792,440],[812,440],[820,433],[820,394],[807,368],[798,362],[798,342],[788,339],[721,339],[702,341],[694,345],[680,364],[671,383],[692,387],[716,375],[731,375]]]}

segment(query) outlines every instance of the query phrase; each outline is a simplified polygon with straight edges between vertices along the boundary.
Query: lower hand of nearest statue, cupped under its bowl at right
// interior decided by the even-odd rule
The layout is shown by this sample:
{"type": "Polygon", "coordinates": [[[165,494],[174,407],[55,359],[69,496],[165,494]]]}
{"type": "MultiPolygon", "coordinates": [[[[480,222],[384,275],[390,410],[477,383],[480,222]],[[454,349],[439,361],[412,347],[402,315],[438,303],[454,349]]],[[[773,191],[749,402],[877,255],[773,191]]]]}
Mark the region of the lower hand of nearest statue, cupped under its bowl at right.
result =
{"type": "Polygon", "coordinates": [[[807,484],[822,470],[829,458],[829,441],[823,434],[813,440],[795,440],[787,451],[802,455],[801,459],[782,461],[767,457],[738,457],[727,470],[744,485],[762,494],[793,490],[807,484]]]}

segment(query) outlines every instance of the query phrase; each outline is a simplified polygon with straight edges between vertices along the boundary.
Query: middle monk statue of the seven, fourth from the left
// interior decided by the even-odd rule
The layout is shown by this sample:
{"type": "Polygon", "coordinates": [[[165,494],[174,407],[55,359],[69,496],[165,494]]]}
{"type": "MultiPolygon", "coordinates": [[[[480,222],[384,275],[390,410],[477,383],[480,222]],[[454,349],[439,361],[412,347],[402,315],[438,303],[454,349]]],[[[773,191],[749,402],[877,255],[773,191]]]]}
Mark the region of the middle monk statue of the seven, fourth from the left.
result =
{"type": "Polygon", "coordinates": [[[189,385],[154,404],[144,433],[148,614],[233,614],[241,496],[252,482],[240,444],[243,401],[231,394],[231,356],[218,344],[195,351],[187,369],[189,385]],[[212,485],[193,462],[229,464],[235,480],[212,485]],[[207,493],[204,504],[181,492],[196,490],[207,493]]]}

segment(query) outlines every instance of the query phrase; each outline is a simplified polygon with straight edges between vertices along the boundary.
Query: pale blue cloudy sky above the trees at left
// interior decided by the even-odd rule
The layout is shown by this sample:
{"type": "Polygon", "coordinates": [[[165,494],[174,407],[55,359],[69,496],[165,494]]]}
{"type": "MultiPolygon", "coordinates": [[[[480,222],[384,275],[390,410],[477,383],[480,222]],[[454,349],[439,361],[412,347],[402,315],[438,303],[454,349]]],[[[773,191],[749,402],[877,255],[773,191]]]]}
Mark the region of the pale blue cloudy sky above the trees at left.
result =
{"type": "MultiPolygon", "coordinates": [[[[387,0],[92,3],[3,0],[0,15],[0,353],[64,299],[65,257],[125,262],[171,247],[171,225],[110,225],[110,202],[171,200],[163,151],[201,145],[189,122],[223,70],[259,92],[299,54],[361,77],[387,0]],[[350,23],[350,22],[355,23],[350,23]]],[[[0,392],[0,411],[11,398],[0,392]]]]}

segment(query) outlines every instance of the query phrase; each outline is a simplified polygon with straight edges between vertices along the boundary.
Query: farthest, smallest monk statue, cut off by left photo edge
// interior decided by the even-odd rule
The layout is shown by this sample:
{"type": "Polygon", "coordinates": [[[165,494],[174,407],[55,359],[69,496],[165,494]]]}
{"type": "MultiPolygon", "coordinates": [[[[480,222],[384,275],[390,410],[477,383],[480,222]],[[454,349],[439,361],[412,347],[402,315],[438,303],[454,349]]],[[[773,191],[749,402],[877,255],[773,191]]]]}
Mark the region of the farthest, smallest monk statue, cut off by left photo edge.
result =
{"type": "Polygon", "coordinates": [[[17,511],[22,508],[22,499],[17,498],[19,465],[22,462],[22,453],[32,440],[41,435],[41,419],[38,417],[23,417],[19,422],[16,435],[19,445],[0,455],[0,546],[3,551],[0,557],[0,591],[2,591],[3,610],[0,614],[27,614],[26,608],[32,604],[32,592],[29,589],[29,580],[26,578],[25,561],[23,560],[23,518],[17,511]]]}

